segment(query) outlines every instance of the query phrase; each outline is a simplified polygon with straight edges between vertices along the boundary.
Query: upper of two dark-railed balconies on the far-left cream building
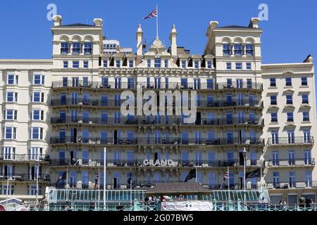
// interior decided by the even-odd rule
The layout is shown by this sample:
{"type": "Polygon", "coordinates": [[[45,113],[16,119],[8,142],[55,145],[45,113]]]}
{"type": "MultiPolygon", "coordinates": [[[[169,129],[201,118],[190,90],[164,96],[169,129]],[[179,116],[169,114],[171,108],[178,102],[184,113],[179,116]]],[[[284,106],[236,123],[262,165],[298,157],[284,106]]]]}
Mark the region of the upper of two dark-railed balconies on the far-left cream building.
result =
{"type": "Polygon", "coordinates": [[[2,154],[0,153],[0,162],[47,162],[49,155],[40,154],[2,154]]]}

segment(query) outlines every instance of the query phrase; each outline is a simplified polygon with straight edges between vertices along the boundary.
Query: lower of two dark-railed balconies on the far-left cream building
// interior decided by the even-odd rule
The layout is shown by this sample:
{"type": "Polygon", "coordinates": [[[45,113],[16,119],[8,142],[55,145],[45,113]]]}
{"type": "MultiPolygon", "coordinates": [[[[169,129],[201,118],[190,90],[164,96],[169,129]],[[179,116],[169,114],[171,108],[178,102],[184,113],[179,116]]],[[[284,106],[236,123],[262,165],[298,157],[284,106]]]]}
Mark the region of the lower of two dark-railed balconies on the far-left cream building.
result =
{"type": "MultiPolygon", "coordinates": [[[[35,182],[37,181],[36,174],[11,174],[7,176],[6,174],[0,174],[0,181],[11,181],[11,182],[35,182]]],[[[49,174],[39,174],[39,182],[49,182],[49,174]]]]}

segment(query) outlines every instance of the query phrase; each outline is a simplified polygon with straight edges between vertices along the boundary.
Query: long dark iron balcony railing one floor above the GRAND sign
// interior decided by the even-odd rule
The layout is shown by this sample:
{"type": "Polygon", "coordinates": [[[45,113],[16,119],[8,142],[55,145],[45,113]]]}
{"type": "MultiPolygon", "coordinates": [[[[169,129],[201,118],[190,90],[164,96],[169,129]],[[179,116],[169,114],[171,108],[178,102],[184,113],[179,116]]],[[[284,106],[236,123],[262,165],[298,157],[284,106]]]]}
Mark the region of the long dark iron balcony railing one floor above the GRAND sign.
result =
{"type": "Polygon", "coordinates": [[[258,138],[228,138],[228,139],[185,139],[178,137],[169,138],[98,138],[81,136],[51,137],[51,144],[98,144],[98,145],[180,145],[180,146],[235,146],[253,145],[264,146],[264,139],[258,138]]]}

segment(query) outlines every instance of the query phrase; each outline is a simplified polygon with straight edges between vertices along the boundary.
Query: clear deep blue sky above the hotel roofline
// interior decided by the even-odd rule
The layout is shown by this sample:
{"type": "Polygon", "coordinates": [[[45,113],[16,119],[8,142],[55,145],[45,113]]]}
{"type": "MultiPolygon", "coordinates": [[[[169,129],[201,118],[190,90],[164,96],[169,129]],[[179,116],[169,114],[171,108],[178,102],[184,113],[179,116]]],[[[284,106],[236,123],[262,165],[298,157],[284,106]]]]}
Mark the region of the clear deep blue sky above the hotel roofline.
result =
{"type": "Polygon", "coordinates": [[[160,1],[160,0],[28,0],[0,3],[0,58],[51,58],[52,22],[46,6],[54,3],[63,23],[92,23],[104,19],[104,34],[119,39],[121,46],[135,49],[135,31],[141,23],[148,43],[155,37],[155,19],[142,20],[159,5],[159,36],[169,46],[175,24],[178,45],[191,53],[203,53],[210,20],[219,25],[248,25],[259,14],[258,6],[268,4],[268,21],[263,28],[263,63],[302,62],[311,53],[317,58],[316,1],[160,1]],[[199,2],[199,3],[198,3],[199,2]]]}

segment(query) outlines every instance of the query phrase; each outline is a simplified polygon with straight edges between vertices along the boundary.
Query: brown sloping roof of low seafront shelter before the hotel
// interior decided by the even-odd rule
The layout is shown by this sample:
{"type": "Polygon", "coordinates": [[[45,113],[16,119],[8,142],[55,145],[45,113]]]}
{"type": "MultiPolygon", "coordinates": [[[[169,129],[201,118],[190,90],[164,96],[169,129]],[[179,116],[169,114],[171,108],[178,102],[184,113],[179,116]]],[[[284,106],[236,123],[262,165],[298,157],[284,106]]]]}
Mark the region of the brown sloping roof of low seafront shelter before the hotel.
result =
{"type": "Polygon", "coordinates": [[[199,183],[159,183],[153,188],[147,189],[147,193],[210,193],[207,188],[201,186],[199,183]]]}

